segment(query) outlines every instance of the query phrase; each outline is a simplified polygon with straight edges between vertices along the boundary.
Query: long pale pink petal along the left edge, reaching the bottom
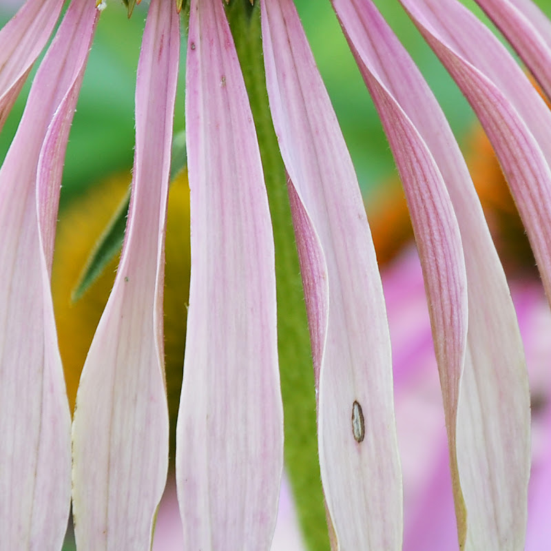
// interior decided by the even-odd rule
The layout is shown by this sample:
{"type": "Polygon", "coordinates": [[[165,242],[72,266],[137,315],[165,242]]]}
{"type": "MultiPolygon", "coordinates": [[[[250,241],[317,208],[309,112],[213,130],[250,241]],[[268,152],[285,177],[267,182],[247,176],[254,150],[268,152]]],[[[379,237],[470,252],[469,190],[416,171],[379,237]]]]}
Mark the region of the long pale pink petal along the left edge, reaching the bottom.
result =
{"type": "Polygon", "coordinates": [[[0,169],[0,534],[59,549],[70,506],[70,411],[50,293],[67,136],[97,21],[75,0],[0,169]]]}

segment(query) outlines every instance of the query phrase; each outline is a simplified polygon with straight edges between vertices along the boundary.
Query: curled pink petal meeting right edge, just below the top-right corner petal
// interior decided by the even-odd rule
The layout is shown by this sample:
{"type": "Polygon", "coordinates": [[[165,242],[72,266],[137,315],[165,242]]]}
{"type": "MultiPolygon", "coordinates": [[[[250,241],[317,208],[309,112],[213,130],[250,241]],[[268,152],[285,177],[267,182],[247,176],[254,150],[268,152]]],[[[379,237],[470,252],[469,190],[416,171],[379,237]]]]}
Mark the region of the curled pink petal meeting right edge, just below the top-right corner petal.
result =
{"type": "Polygon", "coordinates": [[[401,0],[490,138],[551,300],[551,112],[495,36],[455,0],[401,0]]]}

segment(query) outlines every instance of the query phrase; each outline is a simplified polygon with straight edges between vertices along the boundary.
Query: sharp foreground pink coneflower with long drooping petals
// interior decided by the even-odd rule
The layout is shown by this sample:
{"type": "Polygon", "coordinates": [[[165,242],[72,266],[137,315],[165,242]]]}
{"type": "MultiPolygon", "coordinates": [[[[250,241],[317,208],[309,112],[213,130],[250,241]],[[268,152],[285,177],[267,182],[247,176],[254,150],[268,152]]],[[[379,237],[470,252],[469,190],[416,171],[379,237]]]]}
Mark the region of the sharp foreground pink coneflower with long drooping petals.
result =
{"type": "MultiPolygon", "coordinates": [[[[244,10],[236,1],[228,9],[244,10]]],[[[136,0],[125,3],[131,14],[136,0]]],[[[551,297],[548,107],[507,50],[457,0],[401,3],[492,141],[551,297]]],[[[528,0],[479,3],[545,88],[551,32],[541,14],[528,0]]],[[[278,512],[284,455],[279,358],[289,357],[285,348],[294,346],[295,336],[285,329],[293,314],[280,308],[278,318],[276,284],[282,304],[282,281],[292,274],[280,268],[274,235],[285,231],[289,216],[281,214],[287,202],[278,199],[275,207],[280,191],[269,203],[264,169],[273,168],[267,159],[277,153],[260,132],[259,145],[250,92],[264,101],[263,132],[271,132],[265,124],[271,114],[287,171],[333,548],[402,548],[403,497],[406,544],[419,541],[427,533],[424,504],[434,503],[446,484],[455,528],[451,506],[442,506],[441,534],[431,533],[444,539],[427,545],[451,544],[450,532],[457,530],[460,548],[523,548],[532,520],[521,333],[466,163],[422,75],[371,0],[332,1],[404,183],[428,299],[443,417],[434,427],[439,435],[428,438],[433,449],[421,450],[425,461],[436,461],[435,476],[419,470],[415,477],[426,479],[410,484],[410,470],[423,457],[412,466],[402,457],[403,486],[399,441],[403,449],[412,430],[402,433],[408,403],[402,393],[406,382],[408,392],[418,384],[430,400],[419,402],[415,414],[438,409],[435,370],[429,382],[411,367],[419,355],[410,355],[396,362],[393,384],[386,302],[360,189],[294,3],[261,0],[260,19],[258,8],[247,8],[253,11],[241,32],[247,35],[256,21],[257,39],[262,34],[256,92],[245,86],[221,0],[186,4],[192,268],[176,444],[185,545],[267,549],[278,512]],[[414,516],[423,515],[413,528],[411,499],[419,507],[414,516]]],[[[79,549],[147,549],[152,542],[169,451],[162,299],[182,5],[152,0],[149,6],[125,243],[83,368],[72,426],[50,271],[65,147],[105,1],[70,2],[0,169],[0,531],[6,548],[59,548],[70,495],[79,549]]],[[[0,31],[0,126],[62,6],[61,0],[28,0],[0,31]]],[[[281,179],[279,189],[284,184],[281,179]]],[[[287,252],[294,254],[292,242],[287,252]]],[[[401,303],[419,296],[419,271],[412,270],[405,272],[406,284],[415,293],[405,293],[401,303]]],[[[404,283],[400,287],[404,293],[404,283]]],[[[387,304],[392,300],[388,296],[387,304]]],[[[428,355],[426,322],[418,315],[402,318],[404,342],[417,342],[418,352],[428,355]]],[[[307,344],[302,348],[307,357],[307,344]]],[[[546,444],[538,453],[534,477],[545,481],[546,444]]],[[[544,498],[532,490],[536,514],[547,510],[544,498]]]]}

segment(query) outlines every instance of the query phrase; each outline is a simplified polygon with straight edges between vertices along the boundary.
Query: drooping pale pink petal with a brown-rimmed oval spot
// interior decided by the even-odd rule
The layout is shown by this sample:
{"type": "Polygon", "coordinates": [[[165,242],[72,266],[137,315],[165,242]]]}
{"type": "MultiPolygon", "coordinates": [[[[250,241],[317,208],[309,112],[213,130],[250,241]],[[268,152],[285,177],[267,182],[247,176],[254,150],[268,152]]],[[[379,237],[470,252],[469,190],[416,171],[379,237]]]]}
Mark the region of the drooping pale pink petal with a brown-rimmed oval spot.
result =
{"type": "Polygon", "coordinates": [[[261,3],[275,132],[289,173],[315,381],[322,484],[340,549],[400,549],[391,346],[351,158],[291,0],[261,3]]]}

